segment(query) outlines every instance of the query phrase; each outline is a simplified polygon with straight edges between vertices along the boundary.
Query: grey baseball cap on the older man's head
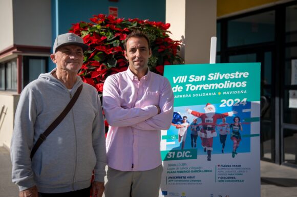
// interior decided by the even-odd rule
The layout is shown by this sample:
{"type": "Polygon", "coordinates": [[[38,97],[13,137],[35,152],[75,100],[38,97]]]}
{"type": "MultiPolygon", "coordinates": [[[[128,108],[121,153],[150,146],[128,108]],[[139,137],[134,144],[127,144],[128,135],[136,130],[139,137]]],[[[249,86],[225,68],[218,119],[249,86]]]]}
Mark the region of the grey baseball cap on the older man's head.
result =
{"type": "Polygon", "coordinates": [[[66,33],[66,34],[61,34],[58,35],[54,46],[53,46],[53,53],[56,53],[56,50],[60,46],[65,46],[65,45],[77,45],[81,46],[82,51],[87,51],[89,46],[87,44],[83,43],[83,40],[81,37],[74,33],[66,33]]]}

